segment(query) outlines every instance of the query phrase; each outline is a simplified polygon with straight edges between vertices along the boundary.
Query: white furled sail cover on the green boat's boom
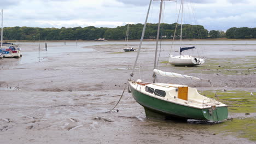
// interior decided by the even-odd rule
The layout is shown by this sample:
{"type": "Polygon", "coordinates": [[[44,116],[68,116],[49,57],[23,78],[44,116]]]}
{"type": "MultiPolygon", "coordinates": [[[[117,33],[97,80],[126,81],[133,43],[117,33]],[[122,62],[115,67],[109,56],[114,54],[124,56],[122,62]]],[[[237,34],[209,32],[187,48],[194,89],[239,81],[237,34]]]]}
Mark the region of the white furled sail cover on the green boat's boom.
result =
{"type": "Polygon", "coordinates": [[[199,77],[195,77],[195,76],[189,76],[189,75],[182,75],[182,74],[177,74],[177,73],[171,73],[171,72],[165,72],[165,71],[161,71],[159,69],[154,69],[154,72],[156,74],[159,74],[161,76],[168,76],[168,77],[181,77],[181,78],[187,78],[187,79],[191,79],[191,80],[205,80],[205,81],[209,81],[206,79],[200,79],[199,77]]]}

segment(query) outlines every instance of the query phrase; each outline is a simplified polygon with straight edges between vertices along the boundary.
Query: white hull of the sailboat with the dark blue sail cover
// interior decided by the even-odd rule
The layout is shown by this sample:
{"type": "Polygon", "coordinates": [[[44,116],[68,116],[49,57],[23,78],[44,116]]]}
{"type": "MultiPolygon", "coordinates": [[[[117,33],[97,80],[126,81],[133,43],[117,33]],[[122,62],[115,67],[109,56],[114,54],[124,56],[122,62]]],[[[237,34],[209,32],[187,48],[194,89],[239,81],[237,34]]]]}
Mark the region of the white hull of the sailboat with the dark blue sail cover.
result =
{"type": "Polygon", "coordinates": [[[168,58],[168,62],[172,65],[177,66],[194,66],[205,63],[205,59],[197,58],[189,55],[181,55],[181,56],[170,56],[168,58]]]}

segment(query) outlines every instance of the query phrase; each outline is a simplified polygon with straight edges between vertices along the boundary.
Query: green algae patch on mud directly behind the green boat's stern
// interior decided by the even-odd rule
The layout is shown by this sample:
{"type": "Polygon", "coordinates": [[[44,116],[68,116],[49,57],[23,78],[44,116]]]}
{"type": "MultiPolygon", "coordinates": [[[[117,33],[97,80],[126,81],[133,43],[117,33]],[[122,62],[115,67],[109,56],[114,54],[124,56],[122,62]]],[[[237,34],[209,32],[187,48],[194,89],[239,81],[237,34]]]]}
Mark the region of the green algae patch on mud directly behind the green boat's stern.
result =
{"type": "MultiPolygon", "coordinates": [[[[202,91],[202,95],[214,98],[214,91],[202,91]]],[[[217,100],[228,105],[229,112],[249,113],[256,112],[256,97],[246,91],[216,91],[217,100]]],[[[256,95],[256,93],[253,93],[256,95]]]]}

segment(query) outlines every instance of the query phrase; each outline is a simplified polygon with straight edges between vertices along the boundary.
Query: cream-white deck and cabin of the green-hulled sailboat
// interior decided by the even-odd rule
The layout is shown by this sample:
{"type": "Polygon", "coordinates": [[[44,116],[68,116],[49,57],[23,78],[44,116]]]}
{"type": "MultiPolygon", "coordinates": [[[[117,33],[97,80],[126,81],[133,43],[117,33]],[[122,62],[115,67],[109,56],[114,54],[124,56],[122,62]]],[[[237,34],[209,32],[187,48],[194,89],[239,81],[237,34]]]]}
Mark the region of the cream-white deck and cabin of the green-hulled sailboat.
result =
{"type": "Polygon", "coordinates": [[[169,101],[172,103],[205,109],[211,106],[226,106],[217,100],[207,98],[197,92],[196,88],[187,85],[174,85],[170,83],[132,82],[131,86],[137,91],[150,97],[169,101]]]}

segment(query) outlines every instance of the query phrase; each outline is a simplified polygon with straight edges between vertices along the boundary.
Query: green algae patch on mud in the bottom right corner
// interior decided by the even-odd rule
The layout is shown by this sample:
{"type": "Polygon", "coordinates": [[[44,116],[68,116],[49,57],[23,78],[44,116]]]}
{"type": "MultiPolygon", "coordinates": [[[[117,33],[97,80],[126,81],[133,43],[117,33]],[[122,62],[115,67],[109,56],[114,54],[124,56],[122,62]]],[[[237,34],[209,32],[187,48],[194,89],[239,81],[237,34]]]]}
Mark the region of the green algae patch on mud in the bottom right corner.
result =
{"type": "Polygon", "coordinates": [[[234,118],[230,121],[212,125],[208,128],[216,133],[236,135],[239,138],[246,138],[256,141],[256,119],[255,118],[234,118]]]}

